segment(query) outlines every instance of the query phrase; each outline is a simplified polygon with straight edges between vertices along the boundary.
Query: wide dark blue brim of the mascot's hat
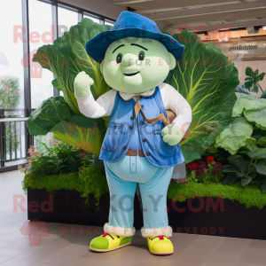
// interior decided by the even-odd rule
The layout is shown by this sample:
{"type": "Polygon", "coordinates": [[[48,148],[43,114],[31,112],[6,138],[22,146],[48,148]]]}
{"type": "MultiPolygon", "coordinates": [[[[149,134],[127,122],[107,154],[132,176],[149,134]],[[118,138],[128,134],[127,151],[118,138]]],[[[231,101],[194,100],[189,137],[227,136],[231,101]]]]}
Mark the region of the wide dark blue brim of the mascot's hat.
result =
{"type": "Polygon", "coordinates": [[[86,43],[86,51],[90,58],[100,64],[101,61],[105,59],[108,46],[114,41],[127,37],[156,40],[162,43],[166,49],[174,55],[176,60],[180,60],[183,57],[184,45],[178,43],[172,36],[162,33],[154,33],[137,27],[103,31],[86,43]]]}

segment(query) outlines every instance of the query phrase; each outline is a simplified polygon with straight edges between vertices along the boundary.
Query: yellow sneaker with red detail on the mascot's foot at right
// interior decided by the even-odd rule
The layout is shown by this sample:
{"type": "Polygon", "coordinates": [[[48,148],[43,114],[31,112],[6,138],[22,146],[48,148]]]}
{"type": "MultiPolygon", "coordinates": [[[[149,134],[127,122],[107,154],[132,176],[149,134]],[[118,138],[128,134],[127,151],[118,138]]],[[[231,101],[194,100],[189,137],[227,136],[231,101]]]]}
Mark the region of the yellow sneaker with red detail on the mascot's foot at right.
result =
{"type": "Polygon", "coordinates": [[[174,246],[166,236],[146,238],[146,241],[151,254],[164,255],[174,253],[174,246]]]}

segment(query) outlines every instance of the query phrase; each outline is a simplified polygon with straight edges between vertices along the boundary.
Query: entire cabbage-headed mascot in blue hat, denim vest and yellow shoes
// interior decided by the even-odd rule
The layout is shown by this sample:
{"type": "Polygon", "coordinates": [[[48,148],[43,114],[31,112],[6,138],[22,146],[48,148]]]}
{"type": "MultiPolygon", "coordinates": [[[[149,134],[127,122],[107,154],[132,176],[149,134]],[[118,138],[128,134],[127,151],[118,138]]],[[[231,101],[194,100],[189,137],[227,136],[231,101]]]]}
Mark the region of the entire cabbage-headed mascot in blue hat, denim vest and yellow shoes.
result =
{"type": "Polygon", "coordinates": [[[113,28],[91,39],[86,51],[101,63],[100,71],[113,88],[95,101],[90,76],[81,72],[74,80],[81,113],[90,118],[110,115],[99,155],[111,197],[109,221],[90,249],[106,252],[131,244],[138,185],[144,216],[141,234],[152,254],[172,254],[167,191],[174,167],[185,173],[178,143],[192,121],[192,109],[164,81],[182,59],[184,46],[160,33],[153,20],[121,12],[113,28]],[[170,113],[176,117],[173,121],[170,113]]]}

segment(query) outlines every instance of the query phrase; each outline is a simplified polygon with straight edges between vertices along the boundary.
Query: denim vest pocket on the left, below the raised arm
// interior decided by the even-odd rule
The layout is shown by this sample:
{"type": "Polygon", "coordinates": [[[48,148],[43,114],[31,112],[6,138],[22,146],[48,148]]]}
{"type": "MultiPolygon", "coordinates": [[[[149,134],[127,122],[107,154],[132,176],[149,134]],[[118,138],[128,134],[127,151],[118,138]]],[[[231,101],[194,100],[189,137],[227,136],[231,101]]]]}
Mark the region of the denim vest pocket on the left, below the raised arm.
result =
{"type": "Polygon", "coordinates": [[[103,145],[104,150],[111,153],[114,153],[118,150],[122,127],[123,125],[119,123],[109,123],[106,131],[105,142],[103,145]]]}

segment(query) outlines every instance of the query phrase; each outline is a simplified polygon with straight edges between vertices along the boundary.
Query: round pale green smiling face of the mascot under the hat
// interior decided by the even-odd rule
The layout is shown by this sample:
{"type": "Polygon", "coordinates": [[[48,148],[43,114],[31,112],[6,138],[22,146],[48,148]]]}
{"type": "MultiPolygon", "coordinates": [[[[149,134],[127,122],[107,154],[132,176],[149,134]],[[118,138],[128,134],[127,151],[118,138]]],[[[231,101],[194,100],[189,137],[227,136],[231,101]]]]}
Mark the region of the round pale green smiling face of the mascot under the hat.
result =
{"type": "Polygon", "coordinates": [[[160,85],[175,66],[176,59],[162,43],[128,37],[108,46],[100,69],[114,90],[140,93],[160,85]]]}

